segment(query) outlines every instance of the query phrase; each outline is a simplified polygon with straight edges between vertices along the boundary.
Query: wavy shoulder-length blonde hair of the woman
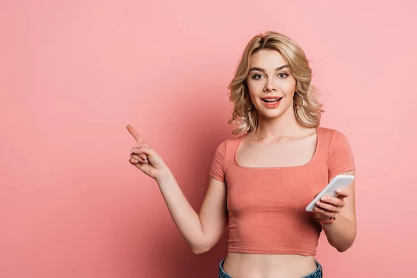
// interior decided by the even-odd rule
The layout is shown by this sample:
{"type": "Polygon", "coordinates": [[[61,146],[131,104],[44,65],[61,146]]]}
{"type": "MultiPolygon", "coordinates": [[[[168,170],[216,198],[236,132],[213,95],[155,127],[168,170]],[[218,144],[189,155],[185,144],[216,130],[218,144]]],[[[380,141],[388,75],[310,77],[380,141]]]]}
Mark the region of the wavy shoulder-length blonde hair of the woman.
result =
{"type": "Polygon", "coordinates": [[[320,124],[322,104],[316,99],[317,90],[311,84],[311,68],[302,48],[293,40],[277,32],[268,31],[265,34],[256,35],[245,47],[240,58],[234,79],[231,80],[228,89],[229,99],[234,104],[229,124],[237,123],[238,128],[233,134],[250,133],[258,129],[258,111],[253,107],[252,111],[245,108],[245,99],[249,90],[247,88],[247,75],[250,70],[250,57],[263,49],[278,51],[286,60],[291,74],[295,78],[294,113],[297,120],[304,126],[316,127],[320,124]]]}

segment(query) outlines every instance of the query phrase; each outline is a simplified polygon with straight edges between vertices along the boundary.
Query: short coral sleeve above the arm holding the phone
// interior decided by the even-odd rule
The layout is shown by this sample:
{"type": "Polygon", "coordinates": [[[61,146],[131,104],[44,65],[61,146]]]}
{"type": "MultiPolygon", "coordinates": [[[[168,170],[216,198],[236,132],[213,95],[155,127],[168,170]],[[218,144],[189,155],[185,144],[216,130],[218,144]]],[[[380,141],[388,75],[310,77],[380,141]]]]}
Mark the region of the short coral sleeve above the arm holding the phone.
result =
{"type": "Polygon", "coordinates": [[[355,170],[354,156],[346,136],[334,130],[329,142],[329,179],[355,170]]]}

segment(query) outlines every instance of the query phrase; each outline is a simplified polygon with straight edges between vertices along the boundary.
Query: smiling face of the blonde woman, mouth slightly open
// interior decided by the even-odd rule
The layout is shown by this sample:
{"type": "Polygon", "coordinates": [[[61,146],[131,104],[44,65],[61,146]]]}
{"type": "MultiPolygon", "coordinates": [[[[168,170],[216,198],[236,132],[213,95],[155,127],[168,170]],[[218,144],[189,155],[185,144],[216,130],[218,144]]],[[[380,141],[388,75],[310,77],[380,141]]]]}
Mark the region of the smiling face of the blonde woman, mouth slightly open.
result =
{"type": "Polygon", "coordinates": [[[293,110],[295,78],[284,57],[275,50],[263,49],[250,58],[247,87],[259,115],[275,118],[293,110]]]}

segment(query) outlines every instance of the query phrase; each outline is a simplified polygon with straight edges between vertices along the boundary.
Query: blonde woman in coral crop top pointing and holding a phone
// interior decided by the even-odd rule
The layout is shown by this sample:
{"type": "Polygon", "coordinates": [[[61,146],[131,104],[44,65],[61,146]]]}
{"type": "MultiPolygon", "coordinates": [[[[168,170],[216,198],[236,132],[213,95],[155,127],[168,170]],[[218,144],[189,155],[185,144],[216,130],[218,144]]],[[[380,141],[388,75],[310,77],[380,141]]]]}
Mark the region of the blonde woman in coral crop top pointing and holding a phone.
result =
{"type": "Polygon", "coordinates": [[[191,250],[210,250],[229,228],[219,277],[322,277],[315,259],[320,231],[339,252],[356,236],[354,183],[306,205],[338,174],[354,175],[347,138],[320,125],[321,104],[304,51],[275,32],[247,44],[229,85],[229,123],[237,138],[215,151],[210,181],[197,214],[163,160],[128,126],[140,144],[130,163],[156,179],[172,218],[191,250]]]}

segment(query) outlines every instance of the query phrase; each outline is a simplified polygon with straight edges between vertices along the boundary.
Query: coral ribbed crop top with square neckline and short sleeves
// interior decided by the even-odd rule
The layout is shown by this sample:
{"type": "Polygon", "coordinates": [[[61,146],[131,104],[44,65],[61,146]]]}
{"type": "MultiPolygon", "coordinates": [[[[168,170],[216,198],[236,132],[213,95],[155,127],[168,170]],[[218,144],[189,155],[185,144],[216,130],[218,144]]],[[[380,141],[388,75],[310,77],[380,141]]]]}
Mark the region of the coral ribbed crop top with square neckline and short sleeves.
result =
{"type": "Polygon", "coordinates": [[[238,165],[236,149],[247,134],[215,150],[210,175],[227,184],[229,252],[316,254],[321,226],[306,206],[329,179],[354,170],[343,133],[323,127],[316,131],[316,151],[300,166],[238,165]]]}

